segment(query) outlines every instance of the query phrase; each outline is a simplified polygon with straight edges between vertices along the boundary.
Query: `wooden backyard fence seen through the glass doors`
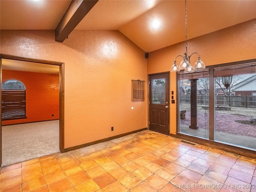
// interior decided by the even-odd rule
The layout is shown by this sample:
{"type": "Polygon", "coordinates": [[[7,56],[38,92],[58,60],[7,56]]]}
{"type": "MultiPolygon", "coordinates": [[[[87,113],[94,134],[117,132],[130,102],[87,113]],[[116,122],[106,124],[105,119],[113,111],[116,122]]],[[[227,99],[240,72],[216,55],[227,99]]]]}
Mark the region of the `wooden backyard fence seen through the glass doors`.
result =
{"type": "MultiPolygon", "coordinates": [[[[190,103],[190,95],[180,95],[180,102],[190,103]]],[[[215,105],[227,106],[227,102],[225,96],[215,96],[215,105]]],[[[209,105],[209,96],[198,95],[197,104],[209,105]]],[[[256,108],[256,96],[229,96],[229,106],[256,108]]]]}

